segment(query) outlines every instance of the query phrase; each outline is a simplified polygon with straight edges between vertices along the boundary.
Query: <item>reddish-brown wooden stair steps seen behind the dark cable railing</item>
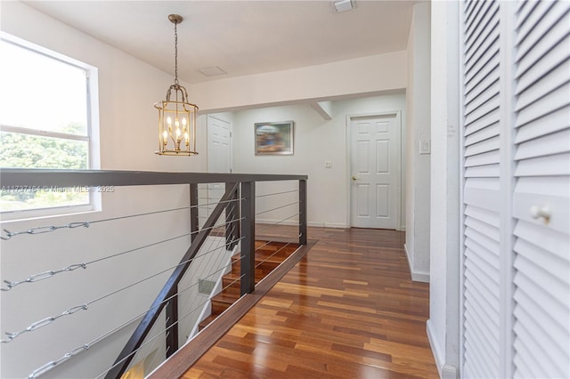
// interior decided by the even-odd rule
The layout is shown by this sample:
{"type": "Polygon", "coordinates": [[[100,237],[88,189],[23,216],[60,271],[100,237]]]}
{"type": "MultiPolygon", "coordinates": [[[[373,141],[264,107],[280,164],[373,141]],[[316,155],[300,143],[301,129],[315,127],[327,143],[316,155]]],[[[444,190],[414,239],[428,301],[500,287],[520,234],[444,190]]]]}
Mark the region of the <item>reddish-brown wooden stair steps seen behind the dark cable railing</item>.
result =
{"type": "MultiPolygon", "coordinates": [[[[298,244],[256,241],[256,284],[293,254],[298,244]]],[[[212,299],[212,314],[199,323],[199,330],[207,327],[224,310],[240,298],[240,254],[232,256],[232,270],[222,278],[222,291],[212,299]]]]}

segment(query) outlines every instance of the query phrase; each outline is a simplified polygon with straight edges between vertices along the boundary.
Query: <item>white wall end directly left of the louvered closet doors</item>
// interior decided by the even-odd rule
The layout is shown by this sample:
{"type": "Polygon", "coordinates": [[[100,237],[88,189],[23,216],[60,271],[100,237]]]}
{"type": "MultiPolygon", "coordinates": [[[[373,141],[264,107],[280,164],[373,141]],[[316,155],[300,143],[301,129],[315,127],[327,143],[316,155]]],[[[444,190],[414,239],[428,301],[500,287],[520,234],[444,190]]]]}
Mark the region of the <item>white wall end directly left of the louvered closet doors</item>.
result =
{"type": "Polygon", "coordinates": [[[459,6],[431,12],[431,215],[428,337],[443,378],[460,368],[459,6]]]}

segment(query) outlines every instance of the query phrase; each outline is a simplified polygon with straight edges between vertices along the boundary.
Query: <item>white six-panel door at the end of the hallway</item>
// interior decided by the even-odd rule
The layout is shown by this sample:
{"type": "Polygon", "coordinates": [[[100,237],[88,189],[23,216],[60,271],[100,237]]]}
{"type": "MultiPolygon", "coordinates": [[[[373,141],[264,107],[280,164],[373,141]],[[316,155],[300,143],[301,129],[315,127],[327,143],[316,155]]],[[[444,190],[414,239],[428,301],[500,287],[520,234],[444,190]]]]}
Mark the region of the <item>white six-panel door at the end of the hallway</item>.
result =
{"type": "Polygon", "coordinates": [[[397,229],[400,214],[400,117],[354,117],[351,225],[397,229]]]}

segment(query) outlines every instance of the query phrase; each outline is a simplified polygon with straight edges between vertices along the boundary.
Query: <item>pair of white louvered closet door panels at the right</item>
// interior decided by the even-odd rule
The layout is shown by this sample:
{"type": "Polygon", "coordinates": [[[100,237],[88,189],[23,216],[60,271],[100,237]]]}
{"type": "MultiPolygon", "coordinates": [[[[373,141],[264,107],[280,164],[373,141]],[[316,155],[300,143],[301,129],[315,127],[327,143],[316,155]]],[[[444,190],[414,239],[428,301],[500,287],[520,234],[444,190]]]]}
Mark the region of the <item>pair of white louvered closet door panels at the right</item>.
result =
{"type": "Polygon", "coordinates": [[[462,11],[461,376],[570,378],[570,1],[462,11]]]}

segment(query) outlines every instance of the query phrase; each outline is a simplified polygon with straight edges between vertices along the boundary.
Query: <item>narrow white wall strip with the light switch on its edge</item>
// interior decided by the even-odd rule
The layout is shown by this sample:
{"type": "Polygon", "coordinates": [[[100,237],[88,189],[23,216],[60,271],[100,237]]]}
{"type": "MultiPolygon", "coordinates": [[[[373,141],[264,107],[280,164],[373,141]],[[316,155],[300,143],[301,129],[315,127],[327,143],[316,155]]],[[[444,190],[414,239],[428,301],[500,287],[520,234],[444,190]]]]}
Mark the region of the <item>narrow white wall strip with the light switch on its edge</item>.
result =
{"type": "Polygon", "coordinates": [[[429,3],[414,5],[408,37],[408,107],[406,139],[406,244],[411,278],[429,281],[430,155],[419,153],[430,139],[429,3]]]}

